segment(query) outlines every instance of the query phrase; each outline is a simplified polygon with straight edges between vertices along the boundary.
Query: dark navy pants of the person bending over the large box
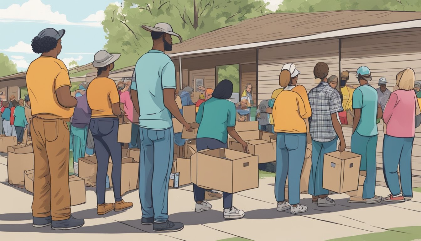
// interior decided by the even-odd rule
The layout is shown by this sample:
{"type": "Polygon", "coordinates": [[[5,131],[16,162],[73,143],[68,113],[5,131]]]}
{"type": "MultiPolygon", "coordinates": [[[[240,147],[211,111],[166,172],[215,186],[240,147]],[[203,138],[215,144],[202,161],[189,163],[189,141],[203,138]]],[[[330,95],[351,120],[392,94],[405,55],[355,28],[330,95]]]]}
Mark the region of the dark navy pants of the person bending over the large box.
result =
{"type": "MultiPolygon", "coordinates": [[[[216,139],[212,138],[197,138],[196,139],[196,148],[197,151],[201,151],[204,149],[219,149],[219,148],[227,148],[228,143],[222,143],[216,139]]],[[[201,187],[197,187],[196,184],[193,184],[193,193],[195,195],[195,201],[200,202],[205,200],[205,189],[201,187]]],[[[224,209],[231,209],[232,207],[232,193],[222,192],[223,200],[224,200],[224,209]]]]}

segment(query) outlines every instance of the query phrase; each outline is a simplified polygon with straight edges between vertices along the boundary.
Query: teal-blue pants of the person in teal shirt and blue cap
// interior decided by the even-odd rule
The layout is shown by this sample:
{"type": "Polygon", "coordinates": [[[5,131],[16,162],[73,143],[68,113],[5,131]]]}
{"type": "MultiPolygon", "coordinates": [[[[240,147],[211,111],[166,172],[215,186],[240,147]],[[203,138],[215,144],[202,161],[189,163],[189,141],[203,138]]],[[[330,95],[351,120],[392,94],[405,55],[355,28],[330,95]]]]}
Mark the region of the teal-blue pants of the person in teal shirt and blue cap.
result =
{"type": "Polygon", "coordinates": [[[373,198],[376,192],[377,135],[364,136],[354,132],[351,136],[351,152],[361,155],[361,171],[367,171],[362,198],[373,198]]]}

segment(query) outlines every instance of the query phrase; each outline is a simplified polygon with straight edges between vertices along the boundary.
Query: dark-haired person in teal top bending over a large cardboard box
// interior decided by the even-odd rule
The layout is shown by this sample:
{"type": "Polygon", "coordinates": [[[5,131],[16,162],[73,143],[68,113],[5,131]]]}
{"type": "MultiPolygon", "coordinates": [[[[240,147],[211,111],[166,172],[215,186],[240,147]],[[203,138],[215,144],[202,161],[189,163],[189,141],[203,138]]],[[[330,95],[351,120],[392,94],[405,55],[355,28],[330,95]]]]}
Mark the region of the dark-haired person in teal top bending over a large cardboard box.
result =
{"type": "MultiPolygon", "coordinates": [[[[196,138],[197,151],[228,148],[229,134],[242,145],[244,152],[248,152],[247,143],[234,130],[235,105],[229,101],[232,95],[232,88],[231,81],[222,80],[216,86],[212,98],[199,106],[196,116],[196,122],[200,124],[196,138]]],[[[193,184],[193,193],[196,201],[196,212],[212,209],[212,205],[205,201],[205,189],[193,184]]],[[[240,219],[244,217],[244,211],[232,206],[232,193],[223,192],[223,200],[224,219],[240,219]]]]}

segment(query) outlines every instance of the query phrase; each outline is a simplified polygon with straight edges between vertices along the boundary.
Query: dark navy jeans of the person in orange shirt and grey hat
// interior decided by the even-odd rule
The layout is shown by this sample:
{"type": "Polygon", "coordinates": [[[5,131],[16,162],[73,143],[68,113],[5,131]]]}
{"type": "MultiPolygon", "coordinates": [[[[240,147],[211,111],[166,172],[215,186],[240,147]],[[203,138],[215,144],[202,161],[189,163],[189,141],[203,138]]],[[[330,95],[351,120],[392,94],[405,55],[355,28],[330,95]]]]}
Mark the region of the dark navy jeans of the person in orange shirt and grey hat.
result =
{"type": "Polygon", "coordinates": [[[107,178],[108,161],[112,160],[112,189],[116,202],[121,201],[121,146],[117,142],[117,118],[93,118],[89,123],[93,136],[98,169],[96,172],[96,201],[105,203],[105,180],[107,178]]]}

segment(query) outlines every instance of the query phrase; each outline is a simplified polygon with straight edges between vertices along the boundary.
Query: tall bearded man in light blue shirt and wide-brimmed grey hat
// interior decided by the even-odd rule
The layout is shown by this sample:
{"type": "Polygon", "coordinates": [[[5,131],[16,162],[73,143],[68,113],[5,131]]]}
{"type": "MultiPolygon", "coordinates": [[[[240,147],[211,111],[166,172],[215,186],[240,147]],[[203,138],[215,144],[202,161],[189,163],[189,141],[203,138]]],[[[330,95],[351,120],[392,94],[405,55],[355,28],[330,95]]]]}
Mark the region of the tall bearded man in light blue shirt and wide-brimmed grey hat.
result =
{"type": "Polygon", "coordinates": [[[176,70],[164,51],[172,50],[170,24],[155,27],[143,25],[151,32],[152,50],[136,63],[136,81],[131,85],[131,97],[139,113],[141,139],[139,163],[139,197],[142,206],[142,224],[154,225],[154,231],[179,231],[184,225],[168,220],[168,183],[174,154],[174,130],[171,114],[192,131],[181,115],[174,99],[176,70]]]}

